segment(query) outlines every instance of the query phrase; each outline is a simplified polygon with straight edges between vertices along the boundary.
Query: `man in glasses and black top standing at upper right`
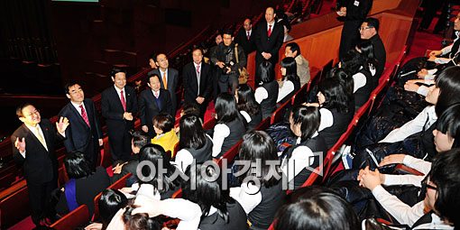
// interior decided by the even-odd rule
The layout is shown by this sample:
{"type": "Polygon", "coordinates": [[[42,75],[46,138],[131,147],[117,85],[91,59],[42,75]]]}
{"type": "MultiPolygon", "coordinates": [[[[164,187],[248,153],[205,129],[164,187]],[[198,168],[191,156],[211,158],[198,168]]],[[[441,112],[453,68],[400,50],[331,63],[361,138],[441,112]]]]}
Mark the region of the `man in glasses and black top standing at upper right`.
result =
{"type": "Polygon", "coordinates": [[[377,59],[377,68],[375,78],[382,76],[383,69],[385,69],[385,62],[387,60],[387,52],[383,46],[382,39],[379,36],[379,20],[369,17],[364,20],[359,28],[362,40],[369,40],[373,43],[373,55],[377,59]]]}

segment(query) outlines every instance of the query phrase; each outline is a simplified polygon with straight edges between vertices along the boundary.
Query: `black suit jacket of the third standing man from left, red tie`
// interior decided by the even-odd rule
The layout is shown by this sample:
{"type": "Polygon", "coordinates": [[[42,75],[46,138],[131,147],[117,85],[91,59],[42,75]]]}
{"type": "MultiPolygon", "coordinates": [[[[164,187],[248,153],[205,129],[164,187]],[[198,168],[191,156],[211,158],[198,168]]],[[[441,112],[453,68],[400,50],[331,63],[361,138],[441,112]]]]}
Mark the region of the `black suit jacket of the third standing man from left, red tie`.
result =
{"type": "MultiPolygon", "coordinates": [[[[137,98],[133,87],[124,87],[124,97],[126,100],[126,112],[137,114],[137,98]]],[[[124,109],[118,94],[116,93],[115,86],[106,88],[102,92],[101,98],[102,116],[106,118],[106,124],[110,130],[119,130],[125,132],[134,128],[134,120],[127,121],[123,119],[124,109]]]]}

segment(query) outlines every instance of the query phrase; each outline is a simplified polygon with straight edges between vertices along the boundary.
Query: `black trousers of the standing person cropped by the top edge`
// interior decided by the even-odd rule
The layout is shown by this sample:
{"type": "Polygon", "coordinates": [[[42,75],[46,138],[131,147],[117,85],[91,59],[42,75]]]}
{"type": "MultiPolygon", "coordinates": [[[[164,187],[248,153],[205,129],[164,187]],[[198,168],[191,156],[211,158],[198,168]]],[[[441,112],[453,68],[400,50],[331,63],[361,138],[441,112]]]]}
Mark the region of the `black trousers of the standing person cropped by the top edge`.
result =
{"type": "Polygon", "coordinates": [[[360,40],[361,35],[358,31],[360,26],[361,21],[345,21],[340,37],[340,48],[338,50],[338,57],[340,60],[342,60],[347,51],[354,49],[354,46],[360,40]]]}

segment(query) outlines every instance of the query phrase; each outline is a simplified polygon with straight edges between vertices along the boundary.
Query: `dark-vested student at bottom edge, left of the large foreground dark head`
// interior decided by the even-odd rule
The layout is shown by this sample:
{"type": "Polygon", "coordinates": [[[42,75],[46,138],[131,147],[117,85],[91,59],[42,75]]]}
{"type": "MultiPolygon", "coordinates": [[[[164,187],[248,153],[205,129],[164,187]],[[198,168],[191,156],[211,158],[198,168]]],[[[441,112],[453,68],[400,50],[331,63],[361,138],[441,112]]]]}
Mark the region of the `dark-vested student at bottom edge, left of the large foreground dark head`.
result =
{"type": "Polygon", "coordinates": [[[222,188],[221,174],[215,168],[197,164],[189,167],[186,175],[196,179],[196,188],[191,180],[183,184],[182,198],[201,207],[198,229],[247,229],[247,216],[242,205],[230,197],[228,189],[222,188]]]}

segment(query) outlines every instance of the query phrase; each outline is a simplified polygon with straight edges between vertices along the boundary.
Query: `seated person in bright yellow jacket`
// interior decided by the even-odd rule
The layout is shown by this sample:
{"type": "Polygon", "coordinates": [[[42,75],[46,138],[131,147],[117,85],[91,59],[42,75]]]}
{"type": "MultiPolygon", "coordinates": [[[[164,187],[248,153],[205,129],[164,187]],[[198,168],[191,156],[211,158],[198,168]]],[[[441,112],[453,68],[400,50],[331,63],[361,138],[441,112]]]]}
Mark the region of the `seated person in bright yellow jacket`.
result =
{"type": "Polygon", "coordinates": [[[174,152],[174,146],[179,143],[179,138],[176,135],[174,121],[170,115],[155,115],[153,117],[153,129],[156,136],[152,138],[152,143],[156,143],[163,147],[165,152],[174,152]]]}

